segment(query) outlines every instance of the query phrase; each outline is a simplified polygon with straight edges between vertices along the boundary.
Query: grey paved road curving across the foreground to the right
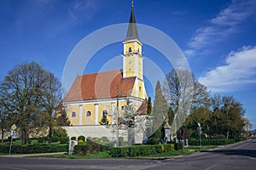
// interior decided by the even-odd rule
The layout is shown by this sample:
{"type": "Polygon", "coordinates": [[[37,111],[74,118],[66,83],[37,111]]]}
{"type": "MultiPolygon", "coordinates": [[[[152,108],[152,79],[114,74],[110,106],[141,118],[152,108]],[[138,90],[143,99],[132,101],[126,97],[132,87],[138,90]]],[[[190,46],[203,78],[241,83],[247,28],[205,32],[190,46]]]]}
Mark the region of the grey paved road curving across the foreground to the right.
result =
{"type": "Polygon", "coordinates": [[[4,170],[66,170],[66,169],[255,169],[256,139],[241,144],[232,144],[220,149],[207,150],[190,156],[181,156],[165,160],[138,159],[100,159],[68,160],[52,158],[0,157],[0,169],[4,170]]]}

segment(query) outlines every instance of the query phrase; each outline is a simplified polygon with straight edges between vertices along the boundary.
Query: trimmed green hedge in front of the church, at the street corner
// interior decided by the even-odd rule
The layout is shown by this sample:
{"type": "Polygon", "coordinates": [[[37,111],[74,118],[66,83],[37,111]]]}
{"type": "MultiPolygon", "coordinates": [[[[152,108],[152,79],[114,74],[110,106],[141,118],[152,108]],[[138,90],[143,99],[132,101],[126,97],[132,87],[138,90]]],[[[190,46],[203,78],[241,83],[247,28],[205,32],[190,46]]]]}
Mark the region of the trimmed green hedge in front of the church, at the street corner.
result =
{"type": "Polygon", "coordinates": [[[112,157],[150,156],[171,150],[171,144],[133,145],[109,148],[112,157]]]}

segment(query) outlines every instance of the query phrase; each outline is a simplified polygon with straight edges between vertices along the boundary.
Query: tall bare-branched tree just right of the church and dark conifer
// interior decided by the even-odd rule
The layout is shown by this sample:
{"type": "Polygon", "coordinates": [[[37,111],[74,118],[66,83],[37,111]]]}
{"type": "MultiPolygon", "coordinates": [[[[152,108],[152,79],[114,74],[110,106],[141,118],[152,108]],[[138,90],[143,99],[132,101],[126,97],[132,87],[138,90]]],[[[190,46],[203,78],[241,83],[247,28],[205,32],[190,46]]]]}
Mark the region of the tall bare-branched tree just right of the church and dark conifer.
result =
{"type": "MultiPolygon", "coordinates": [[[[165,88],[166,98],[170,102],[172,111],[176,114],[176,119],[172,123],[172,128],[185,132],[183,123],[191,113],[191,108],[199,108],[208,103],[207,88],[195,80],[194,75],[187,70],[180,68],[172,69],[166,75],[167,88],[165,88]]],[[[183,141],[183,134],[181,139],[183,141]]],[[[184,146],[184,143],[183,143],[184,146]]]]}

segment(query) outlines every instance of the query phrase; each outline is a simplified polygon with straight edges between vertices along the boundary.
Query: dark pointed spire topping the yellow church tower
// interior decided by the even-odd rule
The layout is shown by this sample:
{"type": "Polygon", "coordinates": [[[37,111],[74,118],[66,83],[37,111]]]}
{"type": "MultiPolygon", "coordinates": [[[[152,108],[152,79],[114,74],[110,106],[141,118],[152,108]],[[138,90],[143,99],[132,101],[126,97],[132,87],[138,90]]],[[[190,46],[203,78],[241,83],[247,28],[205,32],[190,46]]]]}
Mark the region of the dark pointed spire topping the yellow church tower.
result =
{"type": "Polygon", "coordinates": [[[125,41],[130,41],[130,40],[140,41],[139,37],[138,37],[137,24],[136,24],[136,20],[135,20],[135,14],[133,11],[133,7],[134,7],[133,0],[131,0],[131,16],[130,16],[128,31],[126,34],[125,41]]]}

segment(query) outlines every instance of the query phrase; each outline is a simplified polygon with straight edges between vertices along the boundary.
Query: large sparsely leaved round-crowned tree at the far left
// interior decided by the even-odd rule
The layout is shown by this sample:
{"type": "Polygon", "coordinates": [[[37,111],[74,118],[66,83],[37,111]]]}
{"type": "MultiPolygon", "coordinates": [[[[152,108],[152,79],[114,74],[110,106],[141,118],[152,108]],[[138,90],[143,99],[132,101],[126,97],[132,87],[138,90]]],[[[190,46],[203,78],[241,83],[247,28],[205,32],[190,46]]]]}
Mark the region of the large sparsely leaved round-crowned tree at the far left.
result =
{"type": "Polygon", "coordinates": [[[35,62],[16,65],[8,72],[1,86],[1,98],[20,127],[22,144],[26,144],[33,127],[41,125],[44,70],[35,62]]]}

